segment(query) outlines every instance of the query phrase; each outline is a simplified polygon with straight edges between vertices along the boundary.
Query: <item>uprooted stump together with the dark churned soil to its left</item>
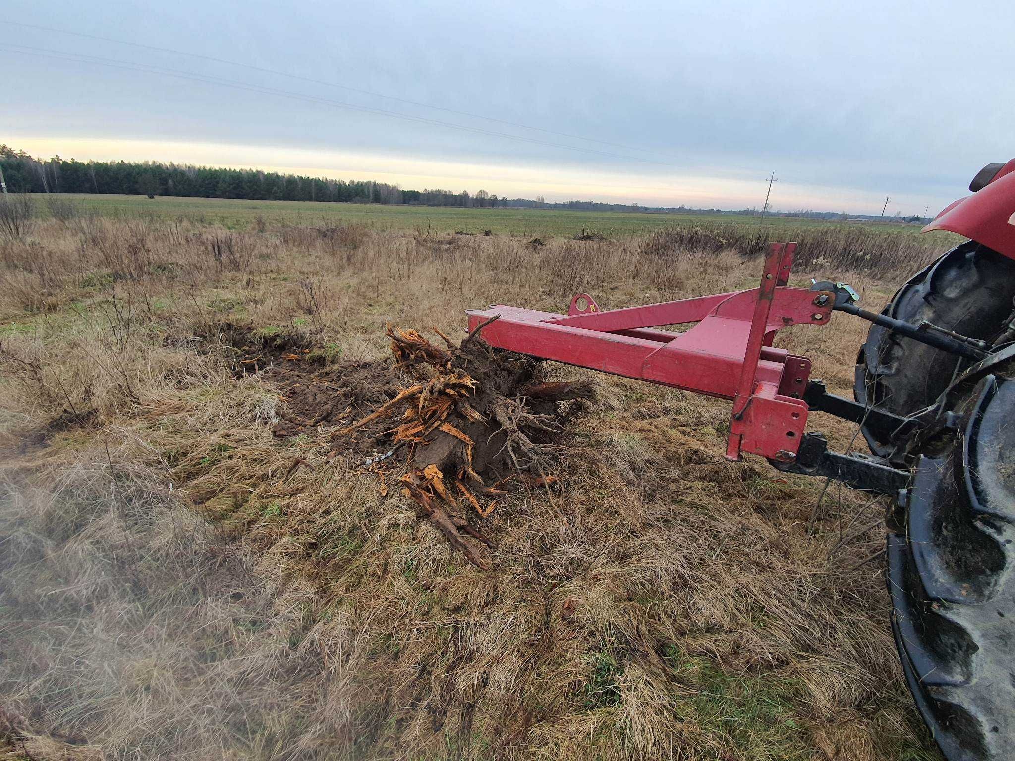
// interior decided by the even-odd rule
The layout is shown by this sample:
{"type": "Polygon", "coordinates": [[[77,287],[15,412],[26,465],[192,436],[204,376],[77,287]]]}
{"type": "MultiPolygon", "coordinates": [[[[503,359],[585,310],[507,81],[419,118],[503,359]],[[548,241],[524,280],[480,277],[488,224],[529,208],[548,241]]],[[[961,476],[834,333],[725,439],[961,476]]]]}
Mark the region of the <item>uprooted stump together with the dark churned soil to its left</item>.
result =
{"type": "Polygon", "coordinates": [[[238,373],[278,386],[284,404],[275,435],[327,434],[332,456],[362,458],[382,481],[398,470],[405,495],[486,567],[462,533],[489,540],[466,515],[490,514],[513,486],[556,480],[567,423],[592,389],[548,380],[541,362],[490,348],[479,331],[458,346],[438,332],[445,347],[416,331],[389,328],[387,335],[394,364],[327,364],[291,336],[248,335],[238,347],[238,373]]]}

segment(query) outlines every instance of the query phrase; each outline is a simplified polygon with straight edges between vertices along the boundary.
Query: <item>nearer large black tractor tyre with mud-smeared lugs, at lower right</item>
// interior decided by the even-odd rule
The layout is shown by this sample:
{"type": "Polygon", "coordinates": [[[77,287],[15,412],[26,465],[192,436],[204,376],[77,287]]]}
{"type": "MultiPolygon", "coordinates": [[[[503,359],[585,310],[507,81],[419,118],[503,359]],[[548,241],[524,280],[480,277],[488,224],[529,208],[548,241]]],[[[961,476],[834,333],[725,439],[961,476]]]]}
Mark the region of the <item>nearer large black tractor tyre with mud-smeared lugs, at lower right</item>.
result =
{"type": "Polygon", "coordinates": [[[948,761],[1015,758],[1015,349],[943,398],[887,540],[892,631],[948,761]]]}

